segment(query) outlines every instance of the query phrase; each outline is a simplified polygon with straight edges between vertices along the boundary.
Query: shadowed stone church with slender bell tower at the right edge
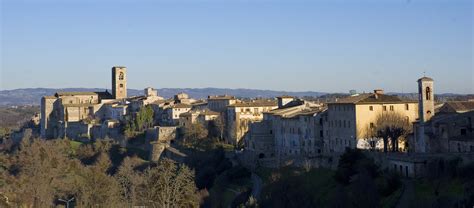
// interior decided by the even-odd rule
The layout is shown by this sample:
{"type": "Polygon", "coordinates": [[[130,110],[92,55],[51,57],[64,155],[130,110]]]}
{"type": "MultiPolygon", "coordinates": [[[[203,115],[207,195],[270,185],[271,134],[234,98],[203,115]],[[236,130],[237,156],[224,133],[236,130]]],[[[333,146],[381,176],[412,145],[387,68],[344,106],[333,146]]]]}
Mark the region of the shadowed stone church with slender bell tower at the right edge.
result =
{"type": "Polygon", "coordinates": [[[433,79],[418,80],[420,120],[410,137],[417,153],[474,152],[474,101],[434,105],[433,79]]]}

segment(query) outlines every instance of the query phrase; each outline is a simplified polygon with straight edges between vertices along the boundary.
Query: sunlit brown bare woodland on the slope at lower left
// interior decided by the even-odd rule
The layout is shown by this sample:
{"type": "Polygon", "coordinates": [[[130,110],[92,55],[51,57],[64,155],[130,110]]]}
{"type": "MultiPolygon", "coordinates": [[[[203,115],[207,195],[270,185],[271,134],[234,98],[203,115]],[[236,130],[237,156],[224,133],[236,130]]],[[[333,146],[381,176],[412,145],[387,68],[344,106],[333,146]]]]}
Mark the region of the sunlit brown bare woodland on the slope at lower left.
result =
{"type": "Polygon", "coordinates": [[[187,166],[123,151],[104,141],[24,140],[0,154],[0,207],[54,207],[70,199],[76,207],[199,206],[187,166]]]}

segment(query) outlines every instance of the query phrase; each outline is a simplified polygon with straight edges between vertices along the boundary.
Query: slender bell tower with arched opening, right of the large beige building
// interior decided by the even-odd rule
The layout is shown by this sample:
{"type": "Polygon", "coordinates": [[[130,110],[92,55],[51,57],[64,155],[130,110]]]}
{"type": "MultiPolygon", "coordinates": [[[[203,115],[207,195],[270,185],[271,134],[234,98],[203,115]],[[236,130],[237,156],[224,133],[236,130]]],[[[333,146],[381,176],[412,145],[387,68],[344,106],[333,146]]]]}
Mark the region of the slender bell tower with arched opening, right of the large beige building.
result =
{"type": "Polygon", "coordinates": [[[418,114],[420,122],[424,123],[429,121],[435,114],[433,79],[429,77],[418,79],[418,94],[418,114]]]}

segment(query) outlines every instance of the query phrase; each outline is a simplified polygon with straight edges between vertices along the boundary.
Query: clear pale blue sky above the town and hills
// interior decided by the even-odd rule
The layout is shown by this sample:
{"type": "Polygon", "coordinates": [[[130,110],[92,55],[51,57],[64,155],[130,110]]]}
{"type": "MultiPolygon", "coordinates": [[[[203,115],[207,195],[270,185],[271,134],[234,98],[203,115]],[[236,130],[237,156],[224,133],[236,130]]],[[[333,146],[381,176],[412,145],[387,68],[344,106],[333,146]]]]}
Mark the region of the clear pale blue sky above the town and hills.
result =
{"type": "Polygon", "coordinates": [[[0,0],[0,90],[474,93],[471,0],[0,0]]]}

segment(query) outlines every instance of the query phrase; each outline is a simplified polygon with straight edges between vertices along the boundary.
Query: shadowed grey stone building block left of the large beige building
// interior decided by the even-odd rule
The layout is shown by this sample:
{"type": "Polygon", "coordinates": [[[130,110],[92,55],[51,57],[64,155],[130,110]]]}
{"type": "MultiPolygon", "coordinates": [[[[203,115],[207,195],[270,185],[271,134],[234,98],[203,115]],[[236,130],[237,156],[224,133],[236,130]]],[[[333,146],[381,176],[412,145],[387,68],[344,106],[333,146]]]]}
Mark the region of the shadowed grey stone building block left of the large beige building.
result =
{"type": "Polygon", "coordinates": [[[325,108],[302,100],[282,102],[284,99],[288,97],[278,97],[278,109],[250,124],[244,142],[247,162],[265,167],[301,166],[321,156],[325,108]]]}

